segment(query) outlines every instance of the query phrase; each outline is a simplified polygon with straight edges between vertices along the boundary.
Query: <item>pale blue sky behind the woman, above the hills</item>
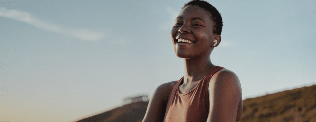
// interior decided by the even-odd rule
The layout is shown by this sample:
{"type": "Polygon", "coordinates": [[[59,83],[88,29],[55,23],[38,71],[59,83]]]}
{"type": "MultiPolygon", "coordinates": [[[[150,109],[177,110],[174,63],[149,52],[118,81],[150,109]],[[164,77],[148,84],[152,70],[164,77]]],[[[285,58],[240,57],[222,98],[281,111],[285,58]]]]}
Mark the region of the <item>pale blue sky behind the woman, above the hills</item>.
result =
{"type": "MultiPolygon", "coordinates": [[[[0,2],[0,121],[68,122],[184,75],[169,33],[188,0],[0,2]]],[[[211,61],[243,99],[316,84],[315,1],[208,2],[224,25],[211,61]]]]}

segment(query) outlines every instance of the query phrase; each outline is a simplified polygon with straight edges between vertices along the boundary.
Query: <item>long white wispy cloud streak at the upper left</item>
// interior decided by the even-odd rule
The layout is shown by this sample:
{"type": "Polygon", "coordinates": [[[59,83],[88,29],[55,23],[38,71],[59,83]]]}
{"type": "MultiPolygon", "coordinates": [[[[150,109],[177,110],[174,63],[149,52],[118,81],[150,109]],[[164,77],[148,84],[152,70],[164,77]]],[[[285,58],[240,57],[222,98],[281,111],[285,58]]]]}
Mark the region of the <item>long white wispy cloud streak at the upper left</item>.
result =
{"type": "Polygon", "coordinates": [[[0,7],[0,17],[18,20],[33,25],[39,29],[76,37],[81,40],[97,41],[105,37],[105,34],[102,32],[94,32],[88,29],[63,27],[40,19],[36,19],[32,17],[30,13],[22,12],[18,9],[6,9],[4,7],[0,7]]]}

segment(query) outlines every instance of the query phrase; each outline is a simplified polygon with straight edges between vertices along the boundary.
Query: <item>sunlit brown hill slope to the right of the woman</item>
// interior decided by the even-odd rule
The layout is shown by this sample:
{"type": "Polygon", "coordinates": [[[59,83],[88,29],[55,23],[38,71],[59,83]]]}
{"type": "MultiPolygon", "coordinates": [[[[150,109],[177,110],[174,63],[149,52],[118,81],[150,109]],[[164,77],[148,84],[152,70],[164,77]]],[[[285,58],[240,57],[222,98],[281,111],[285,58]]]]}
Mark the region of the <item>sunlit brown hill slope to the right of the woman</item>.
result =
{"type": "Polygon", "coordinates": [[[316,85],[243,101],[242,122],[316,122],[316,85]]]}

